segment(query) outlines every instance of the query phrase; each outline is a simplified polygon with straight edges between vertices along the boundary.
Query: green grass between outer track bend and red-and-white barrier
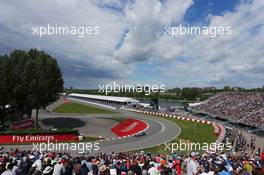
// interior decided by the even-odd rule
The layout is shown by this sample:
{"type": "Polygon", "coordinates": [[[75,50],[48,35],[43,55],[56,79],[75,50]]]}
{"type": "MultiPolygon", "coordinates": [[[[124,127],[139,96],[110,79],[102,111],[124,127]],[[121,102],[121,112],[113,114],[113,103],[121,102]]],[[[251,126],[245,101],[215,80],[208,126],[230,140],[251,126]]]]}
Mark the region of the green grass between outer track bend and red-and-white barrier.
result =
{"type": "MultiPolygon", "coordinates": [[[[169,143],[179,143],[180,140],[190,143],[212,143],[217,137],[214,135],[214,129],[212,125],[196,123],[192,121],[179,120],[174,118],[166,118],[172,122],[175,122],[180,128],[180,135],[169,143]]],[[[159,146],[154,146],[150,148],[143,149],[145,152],[150,152],[154,154],[171,154],[171,151],[166,149],[165,143],[161,143],[159,146]]],[[[140,150],[130,151],[129,153],[139,152],[140,150]]],[[[202,152],[201,150],[195,150],[197,152],[202,152]]],[[[191,150],[176,151],[177,154],[188,154],[191,150]]]]}

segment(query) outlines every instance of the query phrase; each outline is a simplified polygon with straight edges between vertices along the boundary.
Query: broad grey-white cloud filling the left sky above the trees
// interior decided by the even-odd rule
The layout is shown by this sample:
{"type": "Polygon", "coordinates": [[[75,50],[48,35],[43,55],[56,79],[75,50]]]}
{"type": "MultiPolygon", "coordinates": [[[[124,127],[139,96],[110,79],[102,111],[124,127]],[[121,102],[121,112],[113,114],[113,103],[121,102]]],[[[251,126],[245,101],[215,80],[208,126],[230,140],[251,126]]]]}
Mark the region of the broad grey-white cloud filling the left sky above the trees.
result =
{"type": "MultiPolygon", "coordinates": [[[[105,11],[92,1],[1,1],[0,6],[1,48],[40,48],[66,62],[77,62],[100,74],[108,70],[113,77],[126,75],[129,68],[114,62],[112,55],[126,23],[122,16],[105,11]],[[32,35],[33,26],[99,26],[99,36],[78,38],[74,36],[32,35]],[[91,68],[92,67],[92,68],[91,68]],[[126,71],[125,71],[126,70],[126,71]]],[[[74,65],[73,65],[74,67],[74,65]]],[[[132,68],[132,66],[130,66],[132,68]]],[[[74,68],[72,68],[74,69],[74,68]]],[[[103,77],[104,75],[102,75],[103,77]]],[[[78,78],[78,77],[76,77],[78,78]]]]}

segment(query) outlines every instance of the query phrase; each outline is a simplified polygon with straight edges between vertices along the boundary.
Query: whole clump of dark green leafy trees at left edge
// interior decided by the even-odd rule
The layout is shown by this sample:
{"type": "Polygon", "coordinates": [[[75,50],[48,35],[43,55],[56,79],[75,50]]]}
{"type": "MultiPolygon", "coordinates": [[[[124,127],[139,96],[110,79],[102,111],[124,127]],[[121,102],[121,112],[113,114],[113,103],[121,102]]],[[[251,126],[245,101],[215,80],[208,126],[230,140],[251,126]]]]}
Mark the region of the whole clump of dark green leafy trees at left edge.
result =
{"type": "MultiPolygon", "coordinates": [[[[55,58],[37,49],[14,50],[0,55],[0,120],[6,117],[7,106],[20,120],[32,110],[45,108],[63,91],[62,72],[55,58]]],[[[36,122],[37,124],[37,122],[36,122]]]]}

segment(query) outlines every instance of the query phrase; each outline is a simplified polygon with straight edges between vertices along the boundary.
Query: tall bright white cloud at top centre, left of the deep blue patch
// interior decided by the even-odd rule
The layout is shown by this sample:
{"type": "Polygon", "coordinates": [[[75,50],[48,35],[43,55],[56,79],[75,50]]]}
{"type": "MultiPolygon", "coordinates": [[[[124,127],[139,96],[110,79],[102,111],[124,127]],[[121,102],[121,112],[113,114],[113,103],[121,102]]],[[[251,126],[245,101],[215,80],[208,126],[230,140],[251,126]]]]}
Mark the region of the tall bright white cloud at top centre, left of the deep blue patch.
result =
{"type": "Polygon", "coordinates": [[[153,57],[162,59],[159,48],[164,48],[164,45],[160,44],[158,34],[165,25],[180,22],[190,5],[192,0],[167,0],[164,3],[159,0],[137,0],[134,4],[128,4],[124,13],[129,32],[115,52],[117,59],[125,63],[148,61],[153,57]]]}

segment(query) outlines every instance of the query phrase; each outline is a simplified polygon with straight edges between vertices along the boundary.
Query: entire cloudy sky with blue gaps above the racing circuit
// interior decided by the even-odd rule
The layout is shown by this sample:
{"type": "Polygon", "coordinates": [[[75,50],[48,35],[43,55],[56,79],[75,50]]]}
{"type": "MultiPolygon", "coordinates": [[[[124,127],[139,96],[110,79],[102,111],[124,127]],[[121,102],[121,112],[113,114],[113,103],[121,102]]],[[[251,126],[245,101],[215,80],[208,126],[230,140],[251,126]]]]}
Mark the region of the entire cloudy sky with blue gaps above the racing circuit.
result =
{"type": "Polygon", "coordinates": [[[38,48],[65,85],[264,85],[263,0],[1,0],[0,54],[38,48]],[[99,35],[33,35],[36,26],[99,26],[99,35]],[[232,34],[168,37],[165,26],[231,26],[232,34]]]}

